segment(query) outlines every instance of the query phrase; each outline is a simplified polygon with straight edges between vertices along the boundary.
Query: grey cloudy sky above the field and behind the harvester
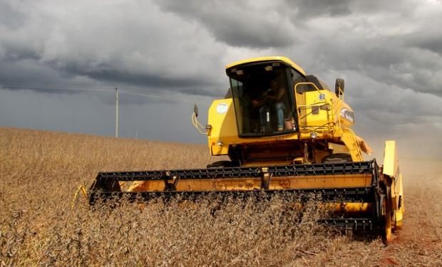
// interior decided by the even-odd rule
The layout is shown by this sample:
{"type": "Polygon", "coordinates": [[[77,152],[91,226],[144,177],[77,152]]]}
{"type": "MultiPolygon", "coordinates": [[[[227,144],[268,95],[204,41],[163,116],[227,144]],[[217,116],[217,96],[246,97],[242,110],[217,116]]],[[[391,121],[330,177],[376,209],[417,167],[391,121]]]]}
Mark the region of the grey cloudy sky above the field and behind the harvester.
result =
{"type": "Polygon", "coordinates": [[[442,1],[0,0],[0,126],[205,143],[225,66],[287,56],[346,81],[381,155],[442,159],[442,1]],[[130,91],[130,92],[129,92],[130,91]]]}

